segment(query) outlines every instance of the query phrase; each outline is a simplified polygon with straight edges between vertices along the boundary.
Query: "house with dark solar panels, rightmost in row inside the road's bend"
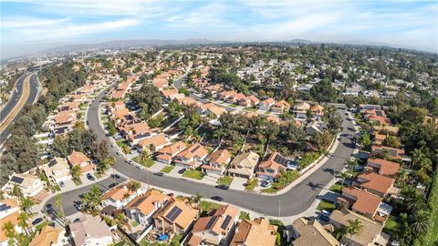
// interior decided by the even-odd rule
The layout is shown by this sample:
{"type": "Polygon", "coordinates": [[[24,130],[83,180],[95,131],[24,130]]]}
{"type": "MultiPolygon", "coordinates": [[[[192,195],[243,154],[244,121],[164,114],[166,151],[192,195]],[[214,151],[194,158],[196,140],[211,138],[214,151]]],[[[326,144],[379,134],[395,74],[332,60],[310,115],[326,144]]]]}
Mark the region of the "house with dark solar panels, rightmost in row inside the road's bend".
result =
{"type": "Polygon", "coordinates": [[[280,153],[273,152],[265,161],[258,164],[257,177],[260,179],[277,179],[280,171],[286,170],[289,159],[284,158],[280,153]]]}

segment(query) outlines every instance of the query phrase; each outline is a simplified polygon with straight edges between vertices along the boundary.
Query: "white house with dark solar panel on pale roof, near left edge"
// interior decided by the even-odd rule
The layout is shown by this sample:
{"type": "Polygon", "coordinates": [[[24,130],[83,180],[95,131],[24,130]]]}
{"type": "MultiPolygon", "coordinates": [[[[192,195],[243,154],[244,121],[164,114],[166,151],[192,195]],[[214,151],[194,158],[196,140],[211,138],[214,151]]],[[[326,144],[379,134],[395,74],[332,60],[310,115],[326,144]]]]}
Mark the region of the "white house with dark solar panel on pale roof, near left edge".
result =
{"type": "Polygon", "coordinates": [[[25,197],[36,197],[39,193],[43,192],[44,185],[41,179],[31,174],[13,174],[9,177],[9,181],[3,187],[6,191],[14,190],[15,186],[20,188],[25,197]]]}

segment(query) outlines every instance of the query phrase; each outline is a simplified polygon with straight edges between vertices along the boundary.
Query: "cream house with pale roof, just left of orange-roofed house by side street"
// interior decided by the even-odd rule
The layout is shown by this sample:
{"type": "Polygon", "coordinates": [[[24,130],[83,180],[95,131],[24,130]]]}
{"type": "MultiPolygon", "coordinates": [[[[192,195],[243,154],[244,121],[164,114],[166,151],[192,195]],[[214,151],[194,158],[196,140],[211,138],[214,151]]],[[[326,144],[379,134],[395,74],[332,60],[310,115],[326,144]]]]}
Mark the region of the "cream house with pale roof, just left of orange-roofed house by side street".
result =
{"type": "Polygon", "coordinates": [[[42,169],[52,184],[59,184],[60,182],[71,179],[67,159],[54,158],[50,160],[47,165],[44,165],[42,169]]]}

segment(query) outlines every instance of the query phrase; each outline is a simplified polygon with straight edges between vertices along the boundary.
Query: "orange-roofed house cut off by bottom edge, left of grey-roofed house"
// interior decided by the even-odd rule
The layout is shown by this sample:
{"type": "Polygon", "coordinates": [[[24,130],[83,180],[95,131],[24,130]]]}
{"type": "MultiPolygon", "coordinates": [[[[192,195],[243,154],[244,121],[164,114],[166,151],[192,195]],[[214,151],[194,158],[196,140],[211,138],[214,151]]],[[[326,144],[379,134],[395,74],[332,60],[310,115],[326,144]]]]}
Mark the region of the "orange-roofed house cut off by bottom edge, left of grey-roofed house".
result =
{"type": "Polygon", "coordinates": [[[28,246],[62,246],[68,244],[64,228],[53,228],[49,225],[43,229],[30,241],[28,246]]]}

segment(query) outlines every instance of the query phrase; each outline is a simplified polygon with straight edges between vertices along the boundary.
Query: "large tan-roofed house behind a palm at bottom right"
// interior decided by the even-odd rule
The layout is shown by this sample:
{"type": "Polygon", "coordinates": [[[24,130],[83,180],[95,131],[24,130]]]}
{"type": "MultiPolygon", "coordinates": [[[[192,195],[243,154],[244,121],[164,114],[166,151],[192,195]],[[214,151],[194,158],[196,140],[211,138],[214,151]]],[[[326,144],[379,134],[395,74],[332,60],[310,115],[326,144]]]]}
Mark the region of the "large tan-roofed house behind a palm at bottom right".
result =
{"type": "Polygon", "coordinates": [[[388,245],[390,236],[383,233],[381,223],[370,220],[356,212],[350,210],[334,210],[330,215],[330,223],[336,228],[349,226],[349,221],[359,220],[362,225],[362,230],[351,235],[351,243],[353,246],[386,246],[388,245]]]}

